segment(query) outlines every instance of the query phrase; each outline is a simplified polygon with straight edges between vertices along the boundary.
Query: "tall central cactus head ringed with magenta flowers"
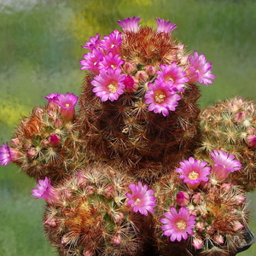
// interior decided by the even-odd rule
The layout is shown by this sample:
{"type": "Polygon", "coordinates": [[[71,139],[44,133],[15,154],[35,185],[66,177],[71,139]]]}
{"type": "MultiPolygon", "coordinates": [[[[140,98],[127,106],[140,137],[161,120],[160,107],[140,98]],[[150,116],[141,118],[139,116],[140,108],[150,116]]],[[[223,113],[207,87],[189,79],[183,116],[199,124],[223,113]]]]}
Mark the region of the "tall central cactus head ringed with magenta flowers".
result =
{"type": "Polygon", "coordinates": [[[194,145],[196,83],[212,84],[214,76],[204,55],[189,55],[172,38],[175,24],[157,18],[154,29],[139,20],[119,20],[122,32],[97,34],[84,45],[79,123],[96,156],[152,178],[152,169],[163,172],[194,145]]]}

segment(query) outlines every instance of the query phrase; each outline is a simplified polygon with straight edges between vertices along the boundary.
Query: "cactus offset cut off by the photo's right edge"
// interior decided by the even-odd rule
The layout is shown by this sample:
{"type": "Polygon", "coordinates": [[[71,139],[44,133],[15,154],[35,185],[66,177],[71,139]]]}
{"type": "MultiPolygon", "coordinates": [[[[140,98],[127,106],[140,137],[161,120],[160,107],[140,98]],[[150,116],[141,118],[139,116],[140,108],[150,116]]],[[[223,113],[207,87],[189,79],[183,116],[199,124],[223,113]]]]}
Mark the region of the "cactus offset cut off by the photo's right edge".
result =
{"type": "Polygon", "coordinates": [[[232,182],[246,191],[256,187],[255,104],[241,97],[218,102],[200,114],[201,139],[196,155],[202,157],[213,148],[234,154],[243,168],[231,174],[232,182]]]}

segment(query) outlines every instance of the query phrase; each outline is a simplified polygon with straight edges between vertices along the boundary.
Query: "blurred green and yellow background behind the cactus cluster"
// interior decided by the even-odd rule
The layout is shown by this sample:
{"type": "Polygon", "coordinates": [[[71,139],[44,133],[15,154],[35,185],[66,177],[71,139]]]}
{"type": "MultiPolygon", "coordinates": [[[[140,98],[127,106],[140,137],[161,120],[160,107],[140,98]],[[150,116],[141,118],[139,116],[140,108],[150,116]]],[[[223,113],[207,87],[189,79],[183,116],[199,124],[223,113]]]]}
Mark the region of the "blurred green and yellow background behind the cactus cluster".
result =
{"type": "MultiPolygon", "coordinates": [[[[116,20],[141,16],[172,20],[189,50],[204,53],[216,79],[201,86],[202,108],[231,96],[256,100],[256,3],[252,0],[0,0],[0,144],[22,114],[44,105],[51,92],[79,95],[84,45],[97,32],[119,29],[116,20]]],[[[35,182],[0,166],[0,255],[55,255],[44,238],[44,201],[30,195],[35,182]]],[[[256,231],[256,193],[250,227],[256,231]]],[[[240,253],[256,254],[256,245],[240,253]]]]}

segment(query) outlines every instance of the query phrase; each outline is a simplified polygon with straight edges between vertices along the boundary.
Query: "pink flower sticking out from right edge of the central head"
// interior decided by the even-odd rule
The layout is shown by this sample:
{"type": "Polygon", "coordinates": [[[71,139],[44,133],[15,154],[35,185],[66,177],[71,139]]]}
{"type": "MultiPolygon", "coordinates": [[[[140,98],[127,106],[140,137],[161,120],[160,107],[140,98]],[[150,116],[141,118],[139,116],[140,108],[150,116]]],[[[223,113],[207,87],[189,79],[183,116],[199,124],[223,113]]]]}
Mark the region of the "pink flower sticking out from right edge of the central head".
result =
{"type": "Polygon", "coordinates": [[[212,84],[212,80],[210,79],[215,79],[215,76],[211,72],[212,63],[207,62],[204,54],[198,55],[197,51],[195,50],[195,56],[190,55],[189,62],[190,65],[185,71],[189,77],[190,83],[195,83],[198,81],[200,84],[212,84]]]}

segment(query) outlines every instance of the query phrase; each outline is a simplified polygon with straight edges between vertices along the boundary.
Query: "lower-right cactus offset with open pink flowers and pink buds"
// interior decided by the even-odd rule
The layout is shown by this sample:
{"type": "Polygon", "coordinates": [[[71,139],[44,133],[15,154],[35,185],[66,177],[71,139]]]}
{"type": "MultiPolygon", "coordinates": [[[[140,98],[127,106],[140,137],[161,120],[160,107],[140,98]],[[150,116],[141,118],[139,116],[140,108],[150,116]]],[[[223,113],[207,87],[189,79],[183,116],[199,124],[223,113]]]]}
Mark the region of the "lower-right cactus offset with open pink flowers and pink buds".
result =
{"type": "Polygon", "coordinates": [[[160,255],[230,255],[246,243],[243,238],[248,224],[245,193],[239,186],[217,180],[220,170],[214,170],[214,165],[214,160],[208,164],[189,158],[176,170],[183,174],[180,178],[172,173],[155,183],[160,206],[154,213],[154,236],[160,255]],[[195,187],[195,174],[200,177],[209,171],[207,181],[201,175],[195,187]]]}

